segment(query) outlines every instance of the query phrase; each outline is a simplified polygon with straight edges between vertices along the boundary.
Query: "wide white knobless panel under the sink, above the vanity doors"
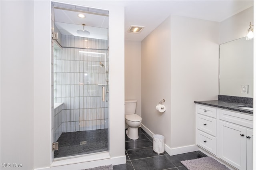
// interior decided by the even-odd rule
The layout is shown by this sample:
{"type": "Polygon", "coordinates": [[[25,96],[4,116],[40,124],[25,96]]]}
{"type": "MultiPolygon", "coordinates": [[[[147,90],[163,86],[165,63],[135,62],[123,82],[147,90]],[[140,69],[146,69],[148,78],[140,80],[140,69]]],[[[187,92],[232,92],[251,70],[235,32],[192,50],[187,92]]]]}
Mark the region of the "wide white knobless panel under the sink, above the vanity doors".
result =
{"type": "Polygon", "coordinates": [[[244,127],[253,128],[253,116],[227,110],[219,110],[220,119],[244,127]]]}

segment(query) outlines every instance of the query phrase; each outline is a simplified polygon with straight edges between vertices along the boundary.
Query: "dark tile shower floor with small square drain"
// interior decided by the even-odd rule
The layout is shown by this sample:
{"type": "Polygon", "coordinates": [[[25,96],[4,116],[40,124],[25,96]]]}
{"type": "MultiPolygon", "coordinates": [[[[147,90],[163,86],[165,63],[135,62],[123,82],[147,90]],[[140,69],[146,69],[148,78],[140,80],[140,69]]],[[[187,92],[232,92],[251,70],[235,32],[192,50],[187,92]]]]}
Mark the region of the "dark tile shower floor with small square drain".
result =
{"type": "Polygon", "coordinates": [[[54,151],[54,158],[106,151],[108,129],[62,133],[57,142],[59,149],[54,151]],[[80,144],[84,141],[86,144],[80,144]]]}

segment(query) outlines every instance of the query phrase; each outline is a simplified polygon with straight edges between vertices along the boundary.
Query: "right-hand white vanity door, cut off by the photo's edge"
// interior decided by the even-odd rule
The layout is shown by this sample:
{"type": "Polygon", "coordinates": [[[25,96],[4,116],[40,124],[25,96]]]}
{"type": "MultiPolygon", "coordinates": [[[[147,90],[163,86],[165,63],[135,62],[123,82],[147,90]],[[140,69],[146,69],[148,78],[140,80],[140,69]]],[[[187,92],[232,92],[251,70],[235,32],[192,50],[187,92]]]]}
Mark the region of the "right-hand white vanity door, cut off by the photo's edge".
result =
{"type": "Polygon", "coordinates": [[[252,134],[253,131],[250,129],[246,130],[246,169],[252,170],[252,134]]]}

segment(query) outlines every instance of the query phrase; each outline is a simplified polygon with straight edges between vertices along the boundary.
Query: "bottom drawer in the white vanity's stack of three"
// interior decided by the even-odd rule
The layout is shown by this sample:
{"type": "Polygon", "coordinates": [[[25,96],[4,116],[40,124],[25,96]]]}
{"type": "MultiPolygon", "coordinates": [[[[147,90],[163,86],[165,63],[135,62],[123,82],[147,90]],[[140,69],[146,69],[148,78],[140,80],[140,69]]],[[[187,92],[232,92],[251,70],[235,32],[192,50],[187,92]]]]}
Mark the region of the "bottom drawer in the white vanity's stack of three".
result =
{"type": "Polygon", "coordinates": [[[196,142],[199,146],[216,155],[216,137],[197,130],[196,142]]]}

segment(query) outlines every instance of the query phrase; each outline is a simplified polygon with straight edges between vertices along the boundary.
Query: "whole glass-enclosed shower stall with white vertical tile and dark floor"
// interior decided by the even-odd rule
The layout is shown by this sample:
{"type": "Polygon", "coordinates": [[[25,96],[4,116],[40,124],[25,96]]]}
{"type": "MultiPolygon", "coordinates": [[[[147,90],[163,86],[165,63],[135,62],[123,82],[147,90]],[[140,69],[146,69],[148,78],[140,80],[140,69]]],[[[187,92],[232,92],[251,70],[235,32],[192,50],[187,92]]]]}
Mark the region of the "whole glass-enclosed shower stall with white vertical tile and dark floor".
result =
{"type": "Polygon", "coordinates": [[[52,28],[52,158],[106,152],[108,11],[52,2],[52,28]]]}

